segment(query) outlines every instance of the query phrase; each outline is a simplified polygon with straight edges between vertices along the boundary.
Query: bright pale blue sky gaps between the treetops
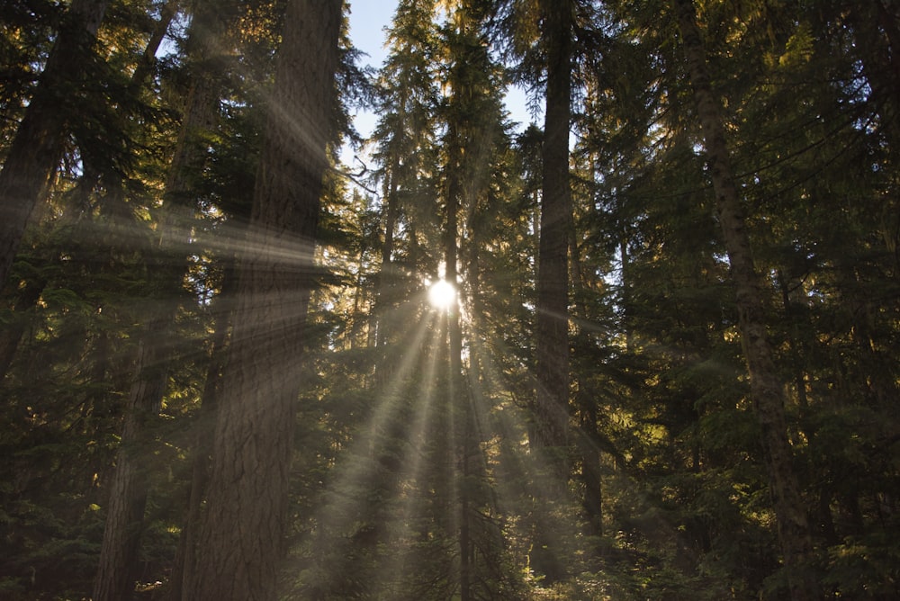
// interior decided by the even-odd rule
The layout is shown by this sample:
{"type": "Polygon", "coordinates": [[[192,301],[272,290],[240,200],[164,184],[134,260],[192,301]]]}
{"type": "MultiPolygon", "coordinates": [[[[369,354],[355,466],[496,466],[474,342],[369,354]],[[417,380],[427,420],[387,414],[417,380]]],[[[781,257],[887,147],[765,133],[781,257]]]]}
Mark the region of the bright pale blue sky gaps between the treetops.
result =
{"type": "MultiPolygon", "coordinates": [[[[362,58],[363,64],[381,67],[387,57],[384,48],[386,28],[391,24],[396,7],[396,0],[350,0],[350,39],[357,49],[368,55],[362,58]]],[[[526,107],[525,93],[517,87],[511,88],[507,94],[507,108],[511,120],[522,124],[519,129],[524,129],[527,123],[533,121],[526,107]]],[[[354,123],[360,134],[366,137],[374,130],[377,120],[377,115],[371,112],[359,112],[354,123]]]]}

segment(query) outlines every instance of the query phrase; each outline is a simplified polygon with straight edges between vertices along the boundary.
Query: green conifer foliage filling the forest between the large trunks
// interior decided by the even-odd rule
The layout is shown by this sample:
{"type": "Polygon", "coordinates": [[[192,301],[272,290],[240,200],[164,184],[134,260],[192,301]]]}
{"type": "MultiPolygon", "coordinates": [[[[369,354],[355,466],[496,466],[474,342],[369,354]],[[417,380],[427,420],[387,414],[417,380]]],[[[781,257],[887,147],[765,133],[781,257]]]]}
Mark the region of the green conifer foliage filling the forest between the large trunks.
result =
{"type": "MultiPolygon", "coordinates": [[[[190,245],[172,266],[153,248],[201,71],[189,54],[197,40],[170,38],[148,80],[130,79],[157,4],[113,3],[85,85],[57,91],[70,100],[60,107],[70,116],[65,156],[0,292],[3,598],[90,594],[137,351],[161,299],[176,310],[162,408],[136,451],[148,466],[141,597],[160,594],[157,580],[171,584],[191,525],[199,406],[229,369],[211,353],[227,349],[232,256],[250,214],[284,5],[213,4],[222,19],[239,13],[240,27],[220,34],[211,61],[217,109],[176,199],[190,245]]],[[[815,550],[805,569],[827,598],[894,598],[896,14],[885,3],[694,4],[786,390],[815,550]]],[[[27,110],[65,6],[0,6],[2,140],[27,110]]],[[[502,94],[517,76],[543,100],[537,6],[401,2],[376,74],[356,67],[345,31],[346,104],[335,121],[352,139],[347,107],[374,104],[373,190],[340,175],[345,166],[326,186],[297,361],[306,385],[284,598],[457,598],[463,552],[471,598],[788,597],[669,3],[575,3],[571,503],[546,508],[568,572],[550,583],[528,563],[545,509],[535,488],[543,466],[528,445],[543,132],[514,130],[502,94]],[[461,381],[447,374],[446,326],[423,284],[451,241],[461,381]]],[[[192,16],[181,14],[172,35],[192,16]]]]}

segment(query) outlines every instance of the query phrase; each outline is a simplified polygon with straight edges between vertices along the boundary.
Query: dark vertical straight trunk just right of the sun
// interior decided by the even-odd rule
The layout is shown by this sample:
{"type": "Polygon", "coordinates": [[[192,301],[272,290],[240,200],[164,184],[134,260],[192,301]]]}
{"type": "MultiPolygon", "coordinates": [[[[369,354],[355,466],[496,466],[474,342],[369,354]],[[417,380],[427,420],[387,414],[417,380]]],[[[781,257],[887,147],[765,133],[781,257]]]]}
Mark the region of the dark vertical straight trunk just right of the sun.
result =
{"type": "Polygon", "coordinates": [[[556,507],[569,479],[569,128],[572,103],[571,0],[542,0],[547,47],[547,91],[543,147],[541,224],[537,261],[536,397],[529,437],[542,462],[537,483],[541,508],[530,562],[547,582],[565,577],[556,507]]]}

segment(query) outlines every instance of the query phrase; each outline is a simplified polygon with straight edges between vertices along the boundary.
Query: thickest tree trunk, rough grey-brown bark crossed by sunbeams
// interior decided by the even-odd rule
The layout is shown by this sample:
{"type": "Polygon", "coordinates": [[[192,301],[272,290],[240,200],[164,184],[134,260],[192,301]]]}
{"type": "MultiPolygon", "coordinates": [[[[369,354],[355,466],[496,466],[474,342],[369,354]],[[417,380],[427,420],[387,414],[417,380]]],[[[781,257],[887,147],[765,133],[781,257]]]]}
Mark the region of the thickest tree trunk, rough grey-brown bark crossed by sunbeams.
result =
{"type": "Polygon", "coordinates": [[[291,0],[242,250],[194,599],[276,597],[306,312],[334,121],[340,0],[291,0]]]}

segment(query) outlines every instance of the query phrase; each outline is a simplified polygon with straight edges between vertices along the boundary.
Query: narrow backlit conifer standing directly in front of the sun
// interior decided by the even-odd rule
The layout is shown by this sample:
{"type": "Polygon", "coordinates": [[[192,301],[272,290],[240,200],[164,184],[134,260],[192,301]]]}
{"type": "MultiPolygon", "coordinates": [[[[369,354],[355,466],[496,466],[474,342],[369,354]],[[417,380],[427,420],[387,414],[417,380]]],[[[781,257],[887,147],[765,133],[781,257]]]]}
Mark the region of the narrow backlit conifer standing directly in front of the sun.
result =
{"type": "MultiPolygon", "coordinates": [[[[463,324],[461,308],[466,296],[478,292],[477,240],[479,225],[474,215],[490,194],[491,176],[496,166],[495,153],[502,148],[501,105],[496,90],[500,87],[500,69],[491,60],[485,33],[488,12],[479,2],[458,2],[444,29],[446,52],[446,101],[438,112],[445,125],[443,138],[444,264],[445,279],[457,290],[456,299],[442,316],[449,359],[447,406],[456,433],[453,441],[459,473],[456,489],[459,505],[460,596],[477,598],[483,581],[477,549],[490,553],[490,545],[478,540],[475,516],[485,499],[476,495],[474,483],[482,475],[481,453],[477,441],[483,433],[476,430],[482,411],[477,393],[476,369],[469,362],[469,378],[464,378],[463,324]],[[461,232],[468,234],[467,256],[461,256],[461,232]],[[467,272],[467,267],[472,271],[467,272]],[[460,277],[463,274],[464,277],[460,277]],[[470,279],[471,278],[471,279],[470,279]],[[464,286],[464,280],[468,285],[464,286]],[[468,292],[466,294],[466,292],[468,292]]],[[[471,304],[471,301],[469,301],[471,304]]]]}

